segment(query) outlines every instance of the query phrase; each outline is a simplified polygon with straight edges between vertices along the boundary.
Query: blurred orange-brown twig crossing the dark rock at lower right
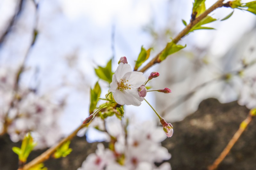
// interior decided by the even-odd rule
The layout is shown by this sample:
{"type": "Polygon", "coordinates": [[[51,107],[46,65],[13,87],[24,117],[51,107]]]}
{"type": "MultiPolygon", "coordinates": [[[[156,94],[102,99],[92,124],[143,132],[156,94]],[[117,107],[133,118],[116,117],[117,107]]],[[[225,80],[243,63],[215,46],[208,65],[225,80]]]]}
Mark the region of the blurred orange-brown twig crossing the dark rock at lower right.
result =
{"type": "Polygon", "coordinates": [[[252,121],[252,117],[254,116],[255,116],[255,110],[251,110],[248,116],[246,117],[246,119],[244,119],[244,121],[240,124],[240,127],[234,134],[233,138],[228,142],[228,145],[220,153],[219,157],[214,161],[214,163],[211,166],[208,167],[208,170],[214,170],[219,166],[219,164],[223,161],[223,159],[228,155],[231,148],[234,146],[234,144],[239,139],[241,134],[244,132],[248,124],[252,121]]]}

